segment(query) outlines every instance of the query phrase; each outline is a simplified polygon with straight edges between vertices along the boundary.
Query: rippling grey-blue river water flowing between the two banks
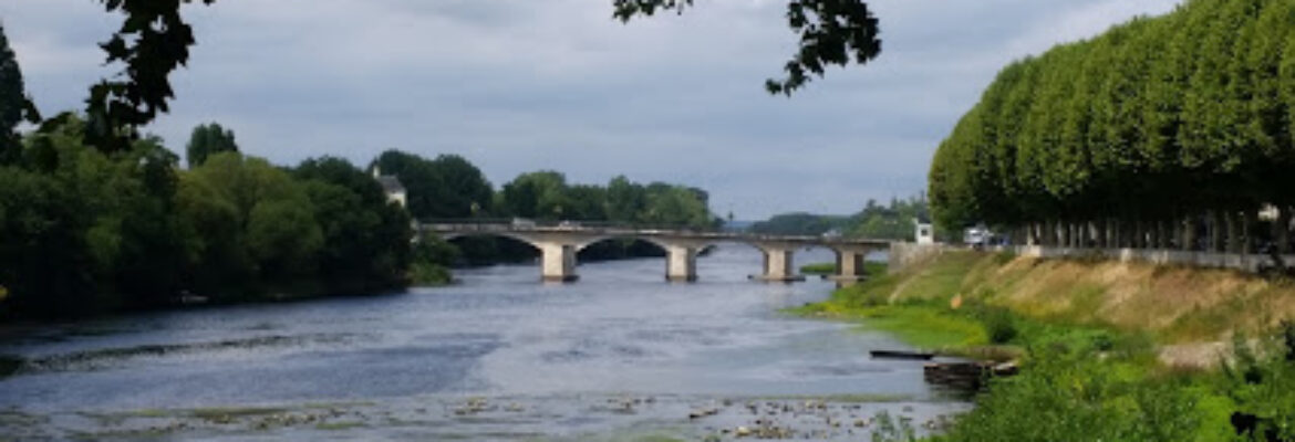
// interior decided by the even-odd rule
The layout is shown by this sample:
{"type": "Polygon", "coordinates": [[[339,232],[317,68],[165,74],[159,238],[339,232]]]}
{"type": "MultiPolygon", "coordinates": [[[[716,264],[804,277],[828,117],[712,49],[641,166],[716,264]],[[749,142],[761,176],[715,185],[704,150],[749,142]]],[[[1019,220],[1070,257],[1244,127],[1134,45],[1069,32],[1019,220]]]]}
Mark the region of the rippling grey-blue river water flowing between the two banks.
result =
{"type": "MultiPolygon", "coordinates": [[[[799,262],[829,261],[824,252],[799,262]]],[[[919,432],[969,405],[856,326],[780,313],[828,282],[763,284],[749,247],[701,280],[660,258],[461,270],[407,293],[4,330],[0,441],[860,439],[887,412],[919,432]],[[692,416],[690,416],[692,415],[692,416]]]]}

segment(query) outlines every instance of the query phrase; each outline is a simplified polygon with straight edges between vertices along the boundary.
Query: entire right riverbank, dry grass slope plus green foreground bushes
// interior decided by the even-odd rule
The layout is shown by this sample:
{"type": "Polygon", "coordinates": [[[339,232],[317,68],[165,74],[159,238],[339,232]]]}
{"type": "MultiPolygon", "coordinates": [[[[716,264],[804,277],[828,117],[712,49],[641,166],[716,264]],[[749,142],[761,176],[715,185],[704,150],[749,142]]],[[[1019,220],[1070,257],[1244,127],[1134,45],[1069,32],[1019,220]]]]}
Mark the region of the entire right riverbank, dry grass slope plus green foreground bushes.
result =
{"type": "Polygon", "coordinates": [[[941,439],[1224,441],[1250,430],[1290,441],[1295,331],[1272,332],[1291,305],[1290,283],[1234,271],[949,252],[795,311],[1020,363],[941,439]],[[1226,354],[1164,355],[1190,346],[1226,354]]]}

